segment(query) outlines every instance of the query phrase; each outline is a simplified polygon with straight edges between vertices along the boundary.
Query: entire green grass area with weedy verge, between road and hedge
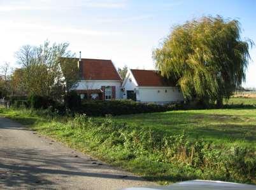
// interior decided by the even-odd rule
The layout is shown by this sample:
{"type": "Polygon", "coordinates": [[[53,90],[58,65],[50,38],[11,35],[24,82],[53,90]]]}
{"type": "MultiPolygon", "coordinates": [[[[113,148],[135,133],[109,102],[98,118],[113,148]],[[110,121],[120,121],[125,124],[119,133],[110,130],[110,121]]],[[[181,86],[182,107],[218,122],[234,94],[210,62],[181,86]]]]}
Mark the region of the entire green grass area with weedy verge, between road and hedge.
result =
{"type": "MultiPolygon", "coordinates": [[[[231,98],[228,104],[255,105],[256,98],[231,98]]],[[[111,119],[53,117],[44,111],[0,108],[0,116],[160,183],[208,179],[256,184],[256,107],[111,119]],[[168,137],[171,140],[165,141],[168,137]]]]}

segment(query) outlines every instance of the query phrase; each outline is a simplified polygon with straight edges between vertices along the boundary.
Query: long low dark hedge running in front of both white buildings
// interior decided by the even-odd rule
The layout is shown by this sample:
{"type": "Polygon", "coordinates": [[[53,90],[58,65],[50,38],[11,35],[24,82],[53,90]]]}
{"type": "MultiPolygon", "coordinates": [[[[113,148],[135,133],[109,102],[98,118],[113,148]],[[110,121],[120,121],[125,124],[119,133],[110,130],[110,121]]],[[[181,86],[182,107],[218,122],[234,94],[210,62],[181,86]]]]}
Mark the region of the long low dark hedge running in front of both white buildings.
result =
{"type": "Polygon", "coordinates": [[[50,109],[59,114],[87,114],[88,116],[113,116],[122,114],[138,114],[146,112],[163,112],[183,108],[183,104],[141,104],[132,100],[84,100],[75,91],[68,92],[64,102],[58,102],[51,97],[31,95],[27,97],[11,97],[11,105],[16,108],[50,109]]]}

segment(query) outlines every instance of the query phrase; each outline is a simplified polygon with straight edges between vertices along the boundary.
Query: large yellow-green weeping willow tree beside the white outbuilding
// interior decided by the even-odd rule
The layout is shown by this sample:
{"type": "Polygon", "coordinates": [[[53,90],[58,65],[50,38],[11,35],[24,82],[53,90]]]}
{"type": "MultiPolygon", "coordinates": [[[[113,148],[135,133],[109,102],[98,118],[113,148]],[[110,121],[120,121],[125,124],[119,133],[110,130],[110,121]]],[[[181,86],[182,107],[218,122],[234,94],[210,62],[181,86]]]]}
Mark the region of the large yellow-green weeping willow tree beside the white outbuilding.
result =
{"type": "Polygon", "coordinates": [[[203,17],[175,26],[153,50],[153,60],[186,98],[222,104],[245,81],[250,46],[253,41],[241,39],[238,20],[203,17]]]}

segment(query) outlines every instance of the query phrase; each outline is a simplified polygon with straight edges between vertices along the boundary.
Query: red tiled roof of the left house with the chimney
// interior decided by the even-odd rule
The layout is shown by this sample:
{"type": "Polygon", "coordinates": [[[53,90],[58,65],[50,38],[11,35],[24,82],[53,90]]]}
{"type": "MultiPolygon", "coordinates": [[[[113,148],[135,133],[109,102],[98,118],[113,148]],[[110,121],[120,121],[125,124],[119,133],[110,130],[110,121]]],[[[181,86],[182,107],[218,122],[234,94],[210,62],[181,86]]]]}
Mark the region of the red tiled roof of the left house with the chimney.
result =
{"type": "Polygon", "coordinates": [[[122,81],[111,60],[82,58],[82,62],[83,79],[122,81]]]}

